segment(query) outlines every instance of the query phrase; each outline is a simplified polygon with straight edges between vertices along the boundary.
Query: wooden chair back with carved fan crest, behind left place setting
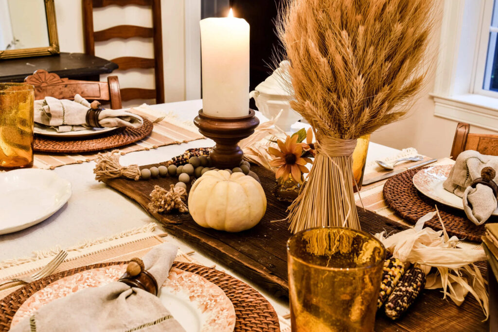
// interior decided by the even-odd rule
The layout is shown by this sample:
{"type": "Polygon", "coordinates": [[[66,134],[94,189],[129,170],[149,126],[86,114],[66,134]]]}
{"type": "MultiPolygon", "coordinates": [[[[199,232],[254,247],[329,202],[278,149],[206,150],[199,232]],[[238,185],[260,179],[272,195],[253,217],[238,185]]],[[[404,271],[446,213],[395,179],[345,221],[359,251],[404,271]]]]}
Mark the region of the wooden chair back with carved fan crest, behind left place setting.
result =
{"type": "Polygon", "coordinates": [[[120,83],[117,76],[109,76],[107,82],[77,81],[60,78],[55,73],[38,69],[24,79],[24,83],[34,86],[34,99],[47,96],[57,99],[73,100],[76,94],[89,100],[109,101],[111,109],[119,110],[121,106],[120,83]]]}

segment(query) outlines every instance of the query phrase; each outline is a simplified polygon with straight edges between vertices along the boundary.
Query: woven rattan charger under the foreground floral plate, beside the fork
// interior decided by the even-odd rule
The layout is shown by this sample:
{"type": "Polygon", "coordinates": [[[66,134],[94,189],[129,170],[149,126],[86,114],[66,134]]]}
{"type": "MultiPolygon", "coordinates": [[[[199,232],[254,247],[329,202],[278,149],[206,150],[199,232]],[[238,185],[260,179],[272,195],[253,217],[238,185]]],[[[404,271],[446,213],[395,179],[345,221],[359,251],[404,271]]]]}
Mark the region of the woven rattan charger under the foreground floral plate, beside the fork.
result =
{"type": "MultiPolygon", "coordinates": [[[[127,262],[109,262],[78,267],[50,275],[15,290],[0,301],[0,330],[7,331],[14,314],[24,301],[50,283],[81,271],[123,263],[127,262]]],[[[261,294],[244,282],[224,272],[197,264],[175,262],[173,267],[198,274],[225,292],[232,301],[237,316],[234,331],[280,331],[278,316],[273,307],[261,294]]]]}

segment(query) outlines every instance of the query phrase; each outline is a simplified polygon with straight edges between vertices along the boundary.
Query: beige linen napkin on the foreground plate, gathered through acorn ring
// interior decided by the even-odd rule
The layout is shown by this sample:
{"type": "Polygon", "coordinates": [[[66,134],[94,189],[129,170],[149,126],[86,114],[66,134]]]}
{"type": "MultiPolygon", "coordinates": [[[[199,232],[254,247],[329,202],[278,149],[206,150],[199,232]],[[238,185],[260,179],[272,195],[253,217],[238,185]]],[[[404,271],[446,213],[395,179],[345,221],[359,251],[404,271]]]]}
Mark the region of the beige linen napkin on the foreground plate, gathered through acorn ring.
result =
{"type": "MultiPolygon", "coordinates": [[[[143,258],[145,270],[162,285],[177,247],[163,243],[143,258]]],[[[57,299],[15,325],[12,332],[185,331],[161,301],[139,288],[113,282],[57,299]]]]}

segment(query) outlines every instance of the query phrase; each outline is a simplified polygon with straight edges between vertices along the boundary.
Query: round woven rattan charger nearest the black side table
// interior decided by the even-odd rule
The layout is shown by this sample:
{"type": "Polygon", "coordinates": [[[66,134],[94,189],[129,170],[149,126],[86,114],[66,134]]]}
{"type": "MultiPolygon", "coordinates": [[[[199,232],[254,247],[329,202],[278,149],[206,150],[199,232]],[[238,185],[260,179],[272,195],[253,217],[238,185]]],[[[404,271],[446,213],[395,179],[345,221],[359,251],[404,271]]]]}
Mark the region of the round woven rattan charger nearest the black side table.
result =
{"type": "Polygon", "coordinates": [[[152,122],[143,118],[139,128],[118,128],[91,139],[57,139],[53,137],[34,136],[33,149],[37,152],[82,153],[94,152],[128,145],[143,139],[152,132],[152,122]]]}

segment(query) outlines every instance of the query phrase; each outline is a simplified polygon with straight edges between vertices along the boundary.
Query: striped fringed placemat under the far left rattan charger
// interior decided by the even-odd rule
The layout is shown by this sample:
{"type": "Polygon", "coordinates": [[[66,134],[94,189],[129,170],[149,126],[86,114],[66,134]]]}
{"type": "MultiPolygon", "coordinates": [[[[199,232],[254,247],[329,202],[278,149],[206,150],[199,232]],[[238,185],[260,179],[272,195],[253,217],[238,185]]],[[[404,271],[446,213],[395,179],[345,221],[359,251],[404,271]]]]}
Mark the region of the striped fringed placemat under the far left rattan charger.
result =
{"type": "MultiPolygon", "coordinates": [[[[159,146],[180,144],[190,142],[196,139],[204,138],[193,122],[184,122],[179,120],[173,113],[163,113],[156,111],[143,104],[139,107],[131,108],[131,112],[140,116],[147,117],[151,121],[157,118],[164,117],[163,120],[154,123],[154,128],[150,135],[135,143],[119,148],[121,154],[126,154],[134,151],[156,149],[159,146]]],[[[99,151],[98,151],[99,152],[99,151]]],[[[98,152],[88,153],[39,153],[34,154],[34,168],[54,169],[55,167],[81,164],[89,162],[97,158],[98,152]]],[[[105,151],[100,151],[105,152],[105,151]]]]}

